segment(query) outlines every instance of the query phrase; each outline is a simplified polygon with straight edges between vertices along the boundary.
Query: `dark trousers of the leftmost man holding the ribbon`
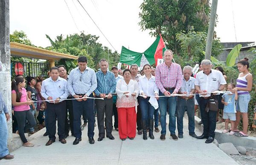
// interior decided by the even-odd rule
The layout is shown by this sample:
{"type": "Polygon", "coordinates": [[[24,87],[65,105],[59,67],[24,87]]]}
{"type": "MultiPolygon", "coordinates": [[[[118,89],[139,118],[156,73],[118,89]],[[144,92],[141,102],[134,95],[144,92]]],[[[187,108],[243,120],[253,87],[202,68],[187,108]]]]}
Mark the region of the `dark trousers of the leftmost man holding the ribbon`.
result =
{"type": "Polygon", "coordinates": [[[66,102],[62,101],[59,104],[47,102],[47,122],[49,139],[55,140],[56,134],[56,118],[58,119],[58,137],[64,139],[65,136],[65,119],[66,119],[66,102]]]}

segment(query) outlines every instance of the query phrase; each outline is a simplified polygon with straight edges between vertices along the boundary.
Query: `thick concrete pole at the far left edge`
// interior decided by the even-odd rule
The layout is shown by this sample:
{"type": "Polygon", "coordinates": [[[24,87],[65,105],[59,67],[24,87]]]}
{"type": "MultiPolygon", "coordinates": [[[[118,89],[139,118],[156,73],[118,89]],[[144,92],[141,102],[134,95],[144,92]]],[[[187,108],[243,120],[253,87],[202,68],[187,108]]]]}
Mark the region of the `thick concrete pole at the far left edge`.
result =
{"type": "Polygon", "coordinates": [[[11,119],[7,122],[8,147],[12,142],[12,98],[11,98],[11,55],[9,0],[0,0],[0,92],[6,103],[11,119]]]}

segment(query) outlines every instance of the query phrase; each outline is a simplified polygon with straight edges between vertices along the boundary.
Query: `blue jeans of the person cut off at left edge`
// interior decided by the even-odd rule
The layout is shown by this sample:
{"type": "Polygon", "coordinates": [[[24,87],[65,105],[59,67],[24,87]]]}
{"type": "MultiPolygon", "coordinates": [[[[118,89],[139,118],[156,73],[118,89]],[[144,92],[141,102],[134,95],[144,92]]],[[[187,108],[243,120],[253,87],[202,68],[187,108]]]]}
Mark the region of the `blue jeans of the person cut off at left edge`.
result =
{"type": "Polygon", "coordinates": [[[4,112],[0,114],[0,137],[0,157],[4,157],[9,154],[7,148],[8,130],[4,112]]]}

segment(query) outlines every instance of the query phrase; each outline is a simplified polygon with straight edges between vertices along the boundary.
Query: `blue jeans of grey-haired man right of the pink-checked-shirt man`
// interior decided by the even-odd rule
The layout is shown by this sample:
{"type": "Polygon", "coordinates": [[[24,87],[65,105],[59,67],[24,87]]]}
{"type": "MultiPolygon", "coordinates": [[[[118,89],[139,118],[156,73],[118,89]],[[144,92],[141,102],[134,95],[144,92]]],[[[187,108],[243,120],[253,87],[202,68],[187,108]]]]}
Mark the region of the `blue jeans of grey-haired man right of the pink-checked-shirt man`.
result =
{"type": "Polygon", "coordinates": [[[178,134],[183,134],[183,117],[187,111],[189,117],[189,134],[195,134],[195,101],[194,98],[185,100],[178,97],[177,99],[177,129],[178,134]]]}

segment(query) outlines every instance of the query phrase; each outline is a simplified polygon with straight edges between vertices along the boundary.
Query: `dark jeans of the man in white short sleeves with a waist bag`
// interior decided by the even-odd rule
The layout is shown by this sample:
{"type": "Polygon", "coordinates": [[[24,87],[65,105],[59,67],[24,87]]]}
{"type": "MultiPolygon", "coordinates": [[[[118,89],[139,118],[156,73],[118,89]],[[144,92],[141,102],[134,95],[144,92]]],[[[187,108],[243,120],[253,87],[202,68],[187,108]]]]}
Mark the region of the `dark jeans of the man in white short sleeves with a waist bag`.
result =
{"type": "MultiPolygon", "coordinates": [[[[218,100],[218,95],[215,96],[215,98],[218,100]]],[[[217,111],[205,111],[206,105],[208,103],[209,99],[204,99],[203,97],[200,97],[200,112],[202,121],[204,124],[204,132],[203,134],[207,137],[215,137],[215,128],[216,128],[216,115],[217,111]]]]}

